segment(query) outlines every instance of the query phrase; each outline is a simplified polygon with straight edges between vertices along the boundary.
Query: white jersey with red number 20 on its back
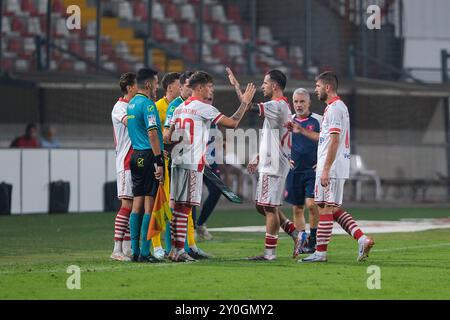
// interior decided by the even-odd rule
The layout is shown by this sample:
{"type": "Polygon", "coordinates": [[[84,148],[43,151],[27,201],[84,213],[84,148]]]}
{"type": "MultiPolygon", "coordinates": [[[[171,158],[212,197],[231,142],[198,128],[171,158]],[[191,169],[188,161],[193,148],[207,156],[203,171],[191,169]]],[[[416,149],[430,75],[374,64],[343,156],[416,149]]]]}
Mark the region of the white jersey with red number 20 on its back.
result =
{"type": "Polygon", "coordinates": [[[172,140],[183,137],[183,141],[172,150],[172,166],[203,172],[211,125],[222,117],[219,110],[196,97],[180,104],[171,120],[175,125],[172,140]]]}

